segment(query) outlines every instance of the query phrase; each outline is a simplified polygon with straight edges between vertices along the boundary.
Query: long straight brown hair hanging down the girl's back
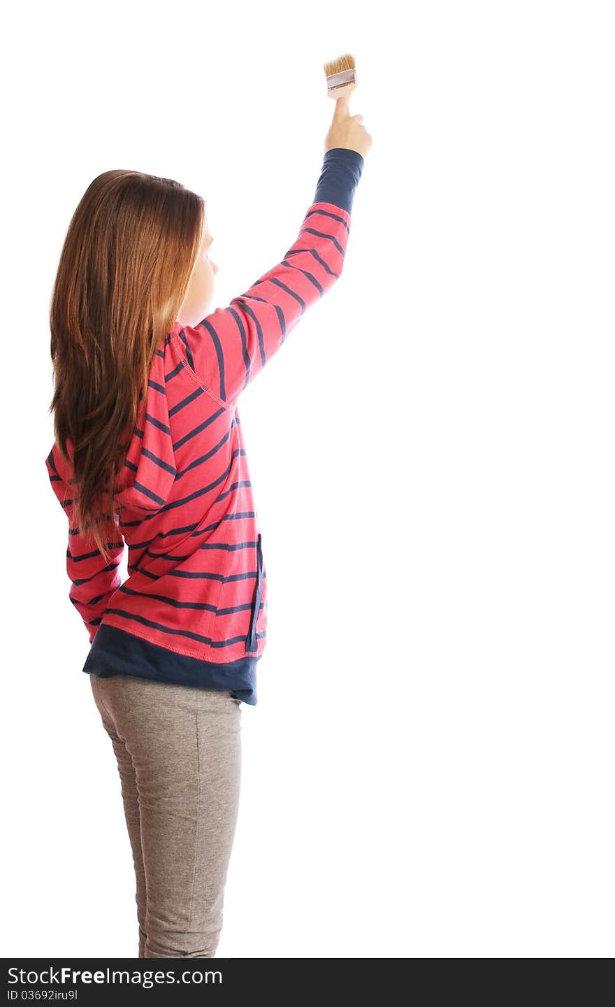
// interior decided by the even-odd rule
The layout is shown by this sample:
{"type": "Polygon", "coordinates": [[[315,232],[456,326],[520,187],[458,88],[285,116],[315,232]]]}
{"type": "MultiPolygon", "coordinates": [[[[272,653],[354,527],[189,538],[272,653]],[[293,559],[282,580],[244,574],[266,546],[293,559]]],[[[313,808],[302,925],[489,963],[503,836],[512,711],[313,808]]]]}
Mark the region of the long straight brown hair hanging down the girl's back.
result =
{"type": "Polygon", "coordinates": [[[86,189],[64,239],[49,308],[49,412],[79,487],[71,523],[90,531],[106,563],[118,533],[115,479],[147,401],[154,353],[185,296],[204,207],[170,178],[105,171],[86,189]]]}

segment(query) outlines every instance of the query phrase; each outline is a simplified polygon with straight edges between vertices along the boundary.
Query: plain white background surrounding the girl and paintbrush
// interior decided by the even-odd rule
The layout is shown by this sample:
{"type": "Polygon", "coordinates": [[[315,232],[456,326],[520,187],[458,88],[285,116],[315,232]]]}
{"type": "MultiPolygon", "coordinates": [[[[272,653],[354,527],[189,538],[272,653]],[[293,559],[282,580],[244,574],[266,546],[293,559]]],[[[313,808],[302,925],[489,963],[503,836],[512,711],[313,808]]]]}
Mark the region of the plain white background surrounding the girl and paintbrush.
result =
{"type": "Polygon", "coordinates": [[[48,483],[48,305],[109,168],[200,192],[225,305],[356,59],[342,278],[240,400],[269,583],[218,957],[610,957],[613,5],[4,16],[5,956],[136,957],[48,483]]]}

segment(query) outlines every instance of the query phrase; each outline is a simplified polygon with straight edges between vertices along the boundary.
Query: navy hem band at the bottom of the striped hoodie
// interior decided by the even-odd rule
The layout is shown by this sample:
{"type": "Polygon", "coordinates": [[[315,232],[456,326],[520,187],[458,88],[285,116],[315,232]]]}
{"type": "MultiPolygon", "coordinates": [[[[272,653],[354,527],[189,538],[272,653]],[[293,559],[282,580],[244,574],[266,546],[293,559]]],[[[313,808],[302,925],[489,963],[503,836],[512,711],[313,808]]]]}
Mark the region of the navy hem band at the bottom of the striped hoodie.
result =
{"type": "Polygon", "coordinates": [[[260,660],[261,656],[239,658],[224,664],[199,661],[103,622],[82,671],[101,679],[132,675],[174,685],[229,689],[236,699],[256,706],[257,663],[260,660]]]}

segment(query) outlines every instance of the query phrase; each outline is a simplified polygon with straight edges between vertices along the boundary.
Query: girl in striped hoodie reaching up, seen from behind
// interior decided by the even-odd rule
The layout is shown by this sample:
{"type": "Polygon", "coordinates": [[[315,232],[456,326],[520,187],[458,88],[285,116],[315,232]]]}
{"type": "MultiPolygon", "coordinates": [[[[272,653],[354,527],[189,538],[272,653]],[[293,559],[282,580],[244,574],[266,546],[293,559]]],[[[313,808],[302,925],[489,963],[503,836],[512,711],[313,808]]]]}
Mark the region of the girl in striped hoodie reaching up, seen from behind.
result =
{"type": "Polygon", "coordinates": [[[208,314],[200,196],[107,171],[70,222],[50,305],[70,601],[136,874],[139,958],[213,958],[257,702],[267,570],[238,399],[339,277],[371,137],[335,104],[314,201],[282,262],[208,314]],[[118,568],[128,545],[128,579],[118,568]]]}

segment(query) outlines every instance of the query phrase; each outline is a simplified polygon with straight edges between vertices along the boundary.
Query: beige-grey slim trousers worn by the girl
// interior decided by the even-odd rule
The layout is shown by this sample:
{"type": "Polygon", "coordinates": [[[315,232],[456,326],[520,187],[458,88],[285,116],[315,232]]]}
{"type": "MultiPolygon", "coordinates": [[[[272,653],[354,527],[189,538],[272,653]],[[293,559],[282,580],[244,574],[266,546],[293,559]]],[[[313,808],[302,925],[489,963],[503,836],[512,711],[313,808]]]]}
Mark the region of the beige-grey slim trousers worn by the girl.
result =
{"type": "Polygon", "coordinates": [[[127,675],[90,676],[120,770],[139,958],[214,958],[241,778],[241,701],[127,675]]]}

